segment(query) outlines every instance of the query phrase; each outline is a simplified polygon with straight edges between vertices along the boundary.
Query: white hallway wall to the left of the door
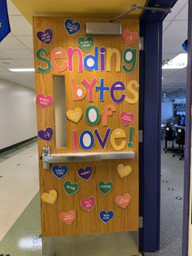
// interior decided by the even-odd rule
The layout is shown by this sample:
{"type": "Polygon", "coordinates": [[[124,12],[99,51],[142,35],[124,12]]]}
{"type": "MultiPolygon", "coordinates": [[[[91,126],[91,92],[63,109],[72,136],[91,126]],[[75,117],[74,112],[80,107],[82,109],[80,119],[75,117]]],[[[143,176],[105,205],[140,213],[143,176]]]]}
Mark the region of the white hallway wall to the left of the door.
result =
{"type": "Polygon", "coordinates": [[[0,149],[37,135],[35,91],[0,78],[0,149]]]}

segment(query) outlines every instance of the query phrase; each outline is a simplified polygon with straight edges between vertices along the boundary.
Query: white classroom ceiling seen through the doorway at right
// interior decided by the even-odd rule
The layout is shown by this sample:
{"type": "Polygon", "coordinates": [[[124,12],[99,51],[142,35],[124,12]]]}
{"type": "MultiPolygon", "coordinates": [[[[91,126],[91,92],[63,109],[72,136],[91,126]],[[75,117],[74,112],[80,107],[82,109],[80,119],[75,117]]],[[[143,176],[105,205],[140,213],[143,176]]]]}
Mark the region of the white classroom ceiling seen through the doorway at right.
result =
{"type": "MultiPolygon", "coordinates": [[[[182,43],[187,39],[188,0],[177,0],[176,5],[163,24],[163,60],[172,60],[185,52],[182,43]]],[[[186,68],[163,69],[162,86],[164,91],[184,89],[186,86],[186,68]]]]}

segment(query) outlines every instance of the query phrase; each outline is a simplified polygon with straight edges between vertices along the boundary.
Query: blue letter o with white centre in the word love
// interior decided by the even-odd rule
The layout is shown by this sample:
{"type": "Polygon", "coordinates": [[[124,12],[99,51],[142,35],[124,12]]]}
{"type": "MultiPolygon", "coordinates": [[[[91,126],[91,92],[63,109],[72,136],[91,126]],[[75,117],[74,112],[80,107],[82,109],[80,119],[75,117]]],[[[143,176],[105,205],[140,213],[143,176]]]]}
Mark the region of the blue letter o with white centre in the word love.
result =
{"type": "Polygon", "coordinates": [[[81,133],[80,146],[83,150],[90,150],[94,147],[94,135],[90,130],[84,130],[81,133]]]}

